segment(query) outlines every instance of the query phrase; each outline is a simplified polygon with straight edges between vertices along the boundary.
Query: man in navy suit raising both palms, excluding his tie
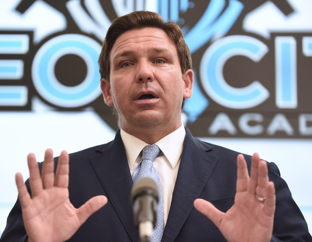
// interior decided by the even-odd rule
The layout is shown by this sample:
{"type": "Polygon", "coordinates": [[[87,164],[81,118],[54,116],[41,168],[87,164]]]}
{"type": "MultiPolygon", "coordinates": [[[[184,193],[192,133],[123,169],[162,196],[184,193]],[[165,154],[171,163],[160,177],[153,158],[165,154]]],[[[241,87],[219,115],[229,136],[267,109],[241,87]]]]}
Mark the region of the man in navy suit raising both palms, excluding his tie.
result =
{"type": "Polygon", "coordinates": [[[177,24],[145,11],[117,18],[99,64],[121,130],[110,143],[63,151],[55,162],[48,149],[39,169],[30,154],[30,178],[24,185],[16,176],[19,200],[1,241],[138,241],[131,176],[153,144],[162,151],[153,166],[164,214],[163,235],[153,241],[312,241],[274,163],[202,142],[181,124],[193,71],[177,24]]]}

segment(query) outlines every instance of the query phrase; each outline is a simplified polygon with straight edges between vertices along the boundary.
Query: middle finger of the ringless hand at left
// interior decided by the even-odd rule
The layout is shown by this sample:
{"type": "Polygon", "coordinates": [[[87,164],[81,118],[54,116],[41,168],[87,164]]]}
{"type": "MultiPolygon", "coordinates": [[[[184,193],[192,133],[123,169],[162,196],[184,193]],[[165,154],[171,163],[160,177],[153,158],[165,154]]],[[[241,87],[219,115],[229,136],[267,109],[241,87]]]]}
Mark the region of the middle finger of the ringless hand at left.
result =
{"type": "Polygon", "coordinates": [[[52,149],[47,149],[44,155],[41,178],[42,178],[44,189],[53,186],[54,184],[54,159],[53,159],[52,149]]]}

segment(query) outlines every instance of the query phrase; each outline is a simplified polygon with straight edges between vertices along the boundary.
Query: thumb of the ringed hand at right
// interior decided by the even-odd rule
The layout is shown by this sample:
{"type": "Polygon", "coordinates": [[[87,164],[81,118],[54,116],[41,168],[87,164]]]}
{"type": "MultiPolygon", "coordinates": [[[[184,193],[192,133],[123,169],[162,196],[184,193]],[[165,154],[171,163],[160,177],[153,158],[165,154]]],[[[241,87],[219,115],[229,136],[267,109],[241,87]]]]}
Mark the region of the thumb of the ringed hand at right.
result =
{"type": "Polygon", "coordinates": [[[210,202],[199,198],[194,201],[194,207],[219,228],[220,222],[224,215],[223,212],[218,210],[210,202]]]}

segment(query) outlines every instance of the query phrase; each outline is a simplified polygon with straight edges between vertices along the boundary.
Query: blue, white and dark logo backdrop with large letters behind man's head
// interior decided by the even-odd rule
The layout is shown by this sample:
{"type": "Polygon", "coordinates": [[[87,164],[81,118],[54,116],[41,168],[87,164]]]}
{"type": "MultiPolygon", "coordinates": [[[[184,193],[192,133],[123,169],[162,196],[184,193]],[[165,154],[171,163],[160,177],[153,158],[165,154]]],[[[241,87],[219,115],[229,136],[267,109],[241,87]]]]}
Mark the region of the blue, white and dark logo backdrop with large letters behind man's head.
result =
{"type": "Polygon", "coordinates": [[[183,122],[196,136],[311,138],[310,1],[2,1],[0,109],[92,107],[118,129],[101,96],[97,58],[111,19],[135,10],[183,27],[194,93],[183,122]]]}

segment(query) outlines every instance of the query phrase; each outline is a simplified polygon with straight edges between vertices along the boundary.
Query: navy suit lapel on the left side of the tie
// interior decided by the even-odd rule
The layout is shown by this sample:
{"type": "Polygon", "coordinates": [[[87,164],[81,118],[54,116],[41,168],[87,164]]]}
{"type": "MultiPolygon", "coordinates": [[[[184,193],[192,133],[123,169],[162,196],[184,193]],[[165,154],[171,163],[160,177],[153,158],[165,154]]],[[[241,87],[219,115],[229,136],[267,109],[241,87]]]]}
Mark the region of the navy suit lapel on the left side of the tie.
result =
{"type": "Polygon", "coordinates": [[[98,151],[102,153],[92,157],[91,164],[130,238],[139,241],[130,203],[133,183],[120,130],[111,145],[104,145],[98,151]]]}

